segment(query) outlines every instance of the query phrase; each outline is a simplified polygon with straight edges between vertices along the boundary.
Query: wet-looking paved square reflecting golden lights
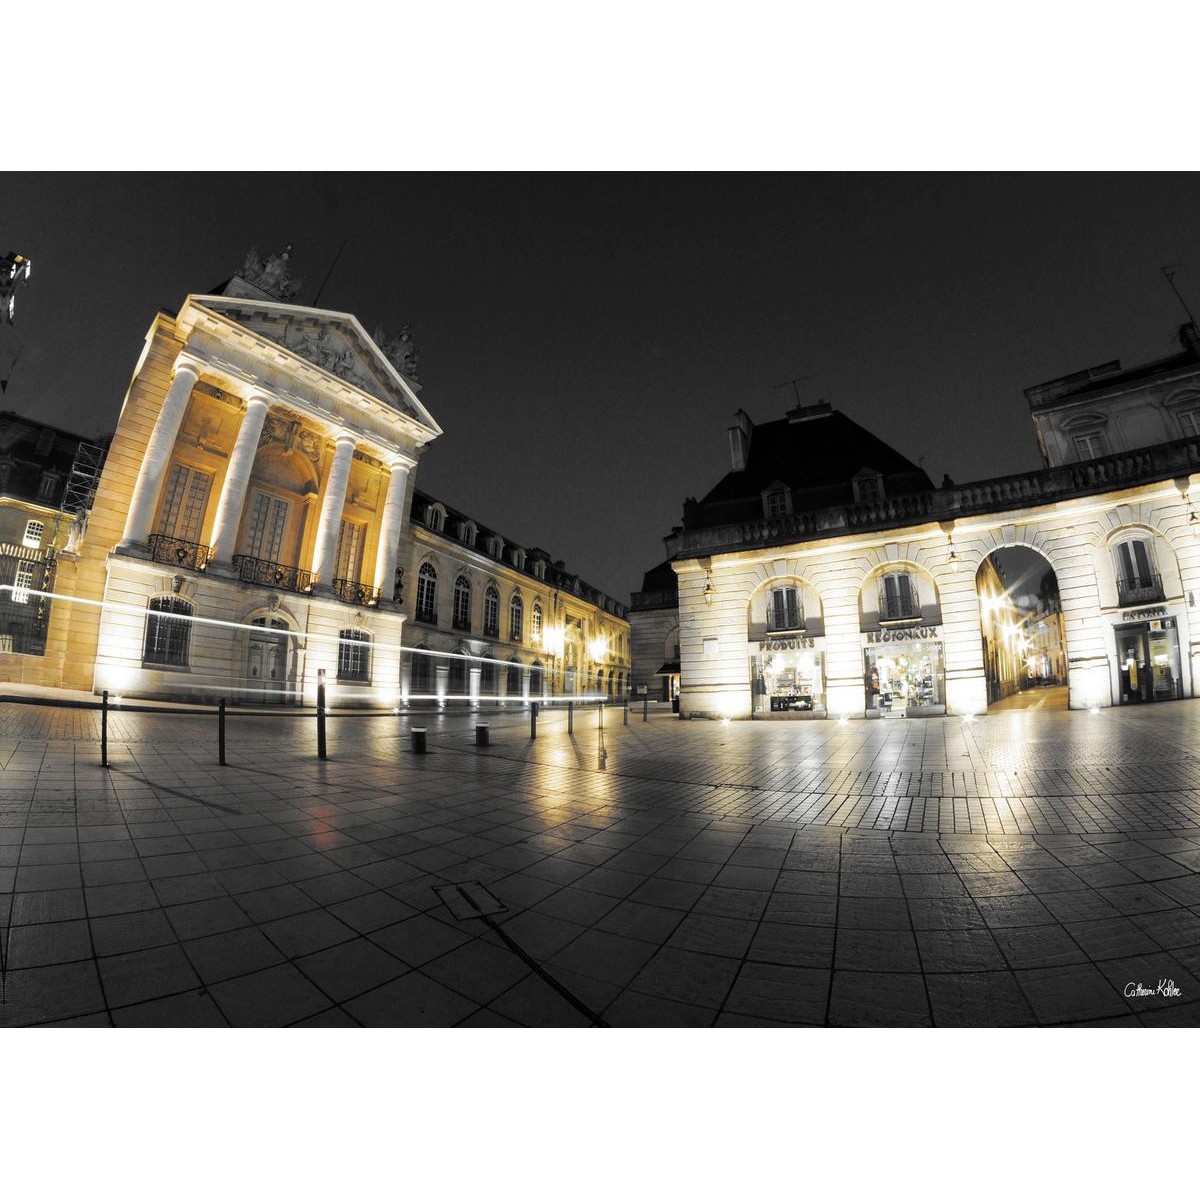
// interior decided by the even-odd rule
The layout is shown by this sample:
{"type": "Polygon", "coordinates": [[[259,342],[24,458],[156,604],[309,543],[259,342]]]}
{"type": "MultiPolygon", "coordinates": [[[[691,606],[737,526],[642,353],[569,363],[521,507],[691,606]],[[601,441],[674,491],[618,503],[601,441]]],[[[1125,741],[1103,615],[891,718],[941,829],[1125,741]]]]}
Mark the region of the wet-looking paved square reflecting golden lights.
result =
{"type": "Polygon", "coordinates": [[[475,719],[0,704],[0,1025],[1200,1019],[1200,703],[475,719]]]}

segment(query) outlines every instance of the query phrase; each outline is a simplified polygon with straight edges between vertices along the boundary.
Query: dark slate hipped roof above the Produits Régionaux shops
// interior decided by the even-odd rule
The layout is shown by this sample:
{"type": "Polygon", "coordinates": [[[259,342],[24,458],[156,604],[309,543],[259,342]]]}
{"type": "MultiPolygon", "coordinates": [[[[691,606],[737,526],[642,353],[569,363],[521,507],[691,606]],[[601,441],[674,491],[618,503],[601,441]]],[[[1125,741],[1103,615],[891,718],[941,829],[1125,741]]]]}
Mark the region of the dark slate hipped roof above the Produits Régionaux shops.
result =
{"type": "Polygon", "coordinates": [[[744,470],[731,470],[698,504],[689,504],[689,529],[762,516],[762,493],[773,484],[792,493],[793,511],[854,503],[853,480],[863,472],[883,476],[887,496],[932,488],[924,470],[845,413],[805,420],[784,418],[756,425],[744,470]]]}

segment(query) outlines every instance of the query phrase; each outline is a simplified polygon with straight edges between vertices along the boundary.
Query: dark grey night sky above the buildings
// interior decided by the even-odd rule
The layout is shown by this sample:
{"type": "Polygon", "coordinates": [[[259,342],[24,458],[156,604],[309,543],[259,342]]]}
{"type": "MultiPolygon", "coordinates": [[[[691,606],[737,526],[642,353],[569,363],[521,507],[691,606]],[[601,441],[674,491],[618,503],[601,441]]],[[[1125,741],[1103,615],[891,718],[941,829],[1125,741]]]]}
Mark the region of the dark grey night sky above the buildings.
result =
{"type": "Polygon", "coordinates": [[[756,421],[827,400],[936,481],[1040,464],[1022,389],[1168,355],[1195,175],[13,174],[4,408],[110,431],[143,336],[295,246],[311,304],[412,323],[418,486],[618,599],[756,421]],[[12,364],[14,355],[16,364],[12,364]]]}

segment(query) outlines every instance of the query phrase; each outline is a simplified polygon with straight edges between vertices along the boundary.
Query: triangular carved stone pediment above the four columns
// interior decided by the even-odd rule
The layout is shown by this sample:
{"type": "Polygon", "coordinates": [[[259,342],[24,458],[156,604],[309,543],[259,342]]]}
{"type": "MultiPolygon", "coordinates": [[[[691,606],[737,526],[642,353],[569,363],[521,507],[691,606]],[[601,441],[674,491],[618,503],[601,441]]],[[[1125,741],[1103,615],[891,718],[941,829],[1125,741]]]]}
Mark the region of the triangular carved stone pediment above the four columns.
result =
{"type": "Polygon", "coordinates": [[[194,296],[204,308],[281,346],[306,362],[361,389],[434,432],[437,422],[407,378],[348,312],[301,308],[250,296],[194,296]]]}

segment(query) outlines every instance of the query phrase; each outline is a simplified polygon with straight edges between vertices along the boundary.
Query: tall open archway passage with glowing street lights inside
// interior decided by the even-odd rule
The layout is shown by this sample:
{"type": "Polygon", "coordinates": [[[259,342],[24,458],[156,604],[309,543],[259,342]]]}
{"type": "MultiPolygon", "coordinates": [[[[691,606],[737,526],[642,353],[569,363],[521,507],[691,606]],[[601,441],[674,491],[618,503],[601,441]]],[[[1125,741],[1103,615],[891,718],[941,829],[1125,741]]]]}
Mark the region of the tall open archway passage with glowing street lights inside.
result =
{"type": "Polygon", "coordinates": [[[1058,580],[1026,546],[992,551],[976,575],[989,710],[1067,707],[1058,580]]]}

